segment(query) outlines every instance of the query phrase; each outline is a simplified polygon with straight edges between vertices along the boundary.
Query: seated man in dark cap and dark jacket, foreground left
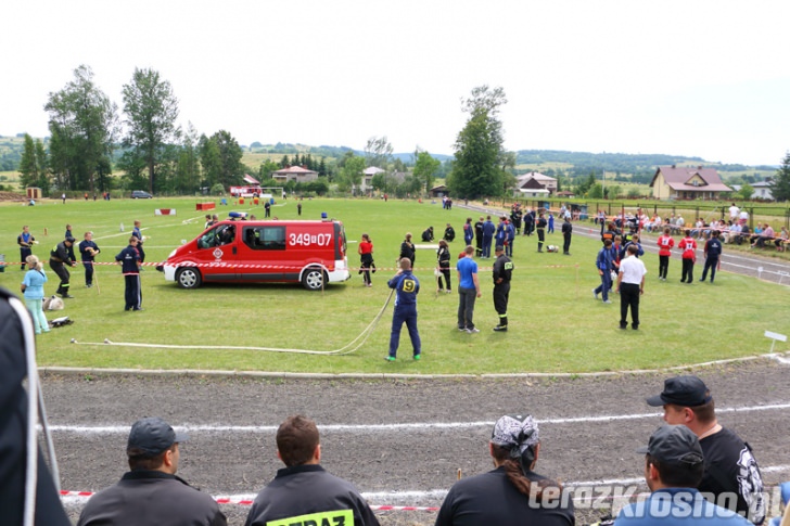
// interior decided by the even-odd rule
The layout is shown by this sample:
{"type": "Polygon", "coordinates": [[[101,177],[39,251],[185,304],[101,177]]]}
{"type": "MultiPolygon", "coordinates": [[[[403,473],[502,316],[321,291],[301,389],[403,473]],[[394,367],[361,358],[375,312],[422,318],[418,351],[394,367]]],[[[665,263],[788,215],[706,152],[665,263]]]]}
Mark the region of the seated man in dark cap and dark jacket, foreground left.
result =
{"type": "Polygon", "coordinates": [[[226,526],[217,502],[176,476],[178,446],[188,438],[162,419],[135,422],[126,447],[131,471],[91,497],[77,526],[226,526]]]}

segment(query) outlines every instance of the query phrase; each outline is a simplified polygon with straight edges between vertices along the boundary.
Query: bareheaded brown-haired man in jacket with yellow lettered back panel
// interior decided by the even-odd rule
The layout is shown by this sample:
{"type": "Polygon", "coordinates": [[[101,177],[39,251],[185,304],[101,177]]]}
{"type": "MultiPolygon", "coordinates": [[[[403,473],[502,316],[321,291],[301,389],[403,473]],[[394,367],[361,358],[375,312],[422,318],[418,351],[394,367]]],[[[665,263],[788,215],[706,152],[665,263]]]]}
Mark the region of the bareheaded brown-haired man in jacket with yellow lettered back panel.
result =
{"type": "Polygon", "coordinates": [[[277,429],[277,457],[285,464],[255,498],[245,526],[379,526],[353,484],[321,467],[318,427],[301,414],[277,429]]]}

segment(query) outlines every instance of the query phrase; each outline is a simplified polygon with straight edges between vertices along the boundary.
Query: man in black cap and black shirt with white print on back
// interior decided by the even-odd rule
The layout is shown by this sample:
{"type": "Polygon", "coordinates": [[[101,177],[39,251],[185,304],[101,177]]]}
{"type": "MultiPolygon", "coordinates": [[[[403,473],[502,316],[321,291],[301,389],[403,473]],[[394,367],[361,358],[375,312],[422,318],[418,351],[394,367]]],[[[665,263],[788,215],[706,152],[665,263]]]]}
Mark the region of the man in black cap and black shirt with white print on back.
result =
{"type": "Polygon", "coordinates": [[[664,408],[667,424],[683,424],[699,437],[705,469],[699,490],[711,502],[737,511],[754,524],[765,521],[763,478],[751,447],[716,420],[710,389],[697,376],[675,376],[647,399],[664,408]]]}

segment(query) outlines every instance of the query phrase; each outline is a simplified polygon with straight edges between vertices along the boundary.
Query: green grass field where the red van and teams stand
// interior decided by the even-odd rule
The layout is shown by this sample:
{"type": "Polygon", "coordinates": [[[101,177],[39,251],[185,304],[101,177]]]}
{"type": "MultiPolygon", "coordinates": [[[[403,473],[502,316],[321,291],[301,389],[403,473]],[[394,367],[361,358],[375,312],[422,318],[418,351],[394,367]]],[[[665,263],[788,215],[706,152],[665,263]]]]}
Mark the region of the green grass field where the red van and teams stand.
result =
{"type": "MultiPolygon", "coordinates": [[[[195,200],[73,201],[66,205],[43,201],[35,207],[0,206],[0,253],[18,260],[16,235],[23,224],[40,241],[34,253],[46,258],[62,241],[67,222],[75,236],[94,232],[102,248],[100,262],[110,262],[128,240],[132,221],[140,219],[146,261],[164,260],[181,243],[201,233],[203,216],[195,200]],[[177,216],[154,216],[154,208],[176,208],[177,216]],[[120,223],[125,230],[120,232],[120,223]],[[44,229],[48,235],[44,235],[44,229]]],[[[229,209],[250,206],[222,207],[229,209]]],[[[599,248],[596,240],[575,236],[571,257],[537,254],[536,239],[518,238],[513,260],[517,270],[510,294],[510,331],[494,333],[497,317],[490,297],[490,264],[481,260],[483,297],[475,308],[476,335],[456,329],[457,295],[436,295],[433,267],[435,251],[418,249],[417,277],[421,281],[419,326],[423,360],[412,362],[408,334],[402,335],[398,361],[386,355],[392,304],[366,344],[347,356],[280,354],[229,350],[213,346],[266,346],[329,351],[341,348],[373,320],[388,296],[386,279],[406,231],[416,239],[429,226],[442,232],[451,222],[458,232],[468,213],[443,210],[438,204],[390,201],[315,200],[303,203],[303,219],[329,217],[345,223],[349,240],[368,232],[374,244],[377,266],[373,287],[362,286],[353,272],[351,281],[324,292],[308,292],[298,285],[207,285],[195,291],[166,283],[162,273],[146,267],[142,275],[142,312],[123,310],[123,278],[116,266],[98,268],[98,287],[85,288],[81,266],[73,269],[72,294],[65,311],[74,324],[39,336],[40,365],[227,369],[330,373],[515,373],[588,372],[661,368],[766,352],[765,330],[788,334],[790,290],[755,279],[721,273],[715,285],[679,283],[680,265],[672,261],[670,280],[657,279],[658,257],[646,256],[648,274],[641,303],[639,331],[617,329],[619,305],[592,299],[598,284],[594,268],[599,248]],[[69,344],[76,338],[79,344],[69,344]],[[89,342],[181,344],[207,349],[141,348],[116,345],[84,345],[89,342]]],[[[258,217],[263,210],[257,211],[258,217]]],[[[296,218],[295,202],[278,203],[272,215],[296,218]]],[[[549,244],[561,244],[561,234],[548,235],[549,244]]],[[[356,243],[348,245],[349,264],[358,265],[356,243]]],[[[459,253],[461,243],[451,244],[459,253]]],[[[697,275],[701,272],[698,265],[697,275]]],[[[48,270],[47,293],[54,293],[58,278],[48,270]]],[[[18,292],[18,266],[0,273],[0,285],[18,292]]],[[[456,277],[454,288],[456,286],[456,277]]],[[[49,318],[55,313],[50,312],[49,318]]],[[[782,349],[783,350],[783,349],[782,349]]]]}

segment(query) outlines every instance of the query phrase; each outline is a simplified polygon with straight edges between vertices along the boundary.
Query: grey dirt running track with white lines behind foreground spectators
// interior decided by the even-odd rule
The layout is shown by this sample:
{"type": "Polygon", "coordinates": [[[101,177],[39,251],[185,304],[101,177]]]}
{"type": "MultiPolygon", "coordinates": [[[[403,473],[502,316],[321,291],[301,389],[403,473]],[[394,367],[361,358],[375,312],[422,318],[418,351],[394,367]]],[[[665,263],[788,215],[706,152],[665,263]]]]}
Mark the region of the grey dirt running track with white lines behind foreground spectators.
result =
{"type": "MultiPolygon", "coordinates": [[[[721,422],[754,448],[766,483],[790,479],[790,365],[760,359],[697,373],[713,392],[721,422]]],[[[641,458],[634,450],[661,423],[644,400],[668,375],[457,381],[48,375],[43,389],[66,490],[114,484],[125,471],[130,424],[161,415],[191,435],[182,448],[181,476],[215,497],[252,498],[280,467],[277,425],[303,412],[321,427],[323,465],[354,482],[371,504],[434,506],[459,469],[464,476],[490,469],[486,442],[493,422],[519,411],[541,422],[538,472],[566,484],[641,480],[641,458]]],[[[68,502],[76,518],[84,501],[68,502]]],[[[243,524],[246,506],[224,510],[229,524],[243,524]]],[[[384,525],[435,518],[432,512],[380,513],[384,525]]],[[[577,523],[598,515],[578,510],[577,523]]]]}

